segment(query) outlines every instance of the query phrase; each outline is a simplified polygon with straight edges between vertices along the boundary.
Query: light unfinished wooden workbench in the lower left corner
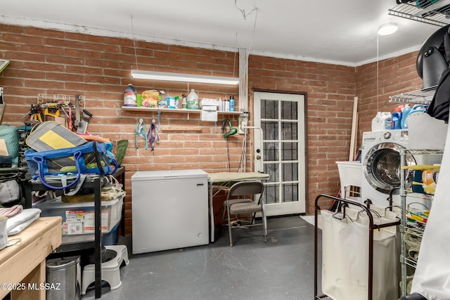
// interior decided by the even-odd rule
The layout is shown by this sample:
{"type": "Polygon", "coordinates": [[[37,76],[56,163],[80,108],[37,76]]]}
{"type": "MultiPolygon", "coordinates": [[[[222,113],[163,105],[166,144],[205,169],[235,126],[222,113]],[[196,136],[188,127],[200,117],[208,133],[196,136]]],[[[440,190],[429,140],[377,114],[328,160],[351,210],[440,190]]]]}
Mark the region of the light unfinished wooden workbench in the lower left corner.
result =
{"type": "Polygon", "coordinates": [[[39,284],[46,282],[46,257],[61,244],[61,222],[60,216],[39,218],[8,237],[20,242],[0,250],[0,298],[11,292],[11,300],[45,299],[39,284]]]}

